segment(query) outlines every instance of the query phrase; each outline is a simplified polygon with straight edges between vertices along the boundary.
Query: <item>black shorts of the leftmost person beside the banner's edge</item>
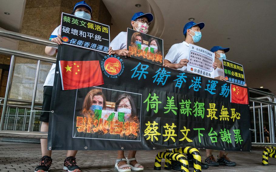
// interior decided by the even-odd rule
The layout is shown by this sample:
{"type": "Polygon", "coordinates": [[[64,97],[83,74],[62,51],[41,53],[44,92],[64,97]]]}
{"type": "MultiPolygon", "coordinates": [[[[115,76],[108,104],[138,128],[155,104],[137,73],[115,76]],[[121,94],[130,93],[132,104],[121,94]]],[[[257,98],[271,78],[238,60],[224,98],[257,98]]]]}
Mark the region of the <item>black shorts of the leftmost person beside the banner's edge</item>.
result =
{"type": "MultiPolygon", "coordinates": [[[[43,88],[43,103],[42,111],[50,111],[51,100],[52,100],[52,86],[44,86],[43,88]]],[[[50,112],[42,112],[39,121],[49,122],[50,112]]]]}

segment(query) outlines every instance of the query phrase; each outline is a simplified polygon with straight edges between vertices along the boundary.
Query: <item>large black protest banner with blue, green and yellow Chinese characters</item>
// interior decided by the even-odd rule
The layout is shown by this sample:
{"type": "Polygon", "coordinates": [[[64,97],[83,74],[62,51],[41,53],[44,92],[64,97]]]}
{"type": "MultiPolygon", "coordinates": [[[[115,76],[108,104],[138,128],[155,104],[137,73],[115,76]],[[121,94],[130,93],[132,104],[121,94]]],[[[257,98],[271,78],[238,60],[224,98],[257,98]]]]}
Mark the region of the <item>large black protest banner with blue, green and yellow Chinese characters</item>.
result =
{"type": "Polygon", "coordinates": [[[251,150],[246,87],[68,45],[58,61],[99,61],[104,84],[62,91],[56,68],[51,150],[251,150]]]}

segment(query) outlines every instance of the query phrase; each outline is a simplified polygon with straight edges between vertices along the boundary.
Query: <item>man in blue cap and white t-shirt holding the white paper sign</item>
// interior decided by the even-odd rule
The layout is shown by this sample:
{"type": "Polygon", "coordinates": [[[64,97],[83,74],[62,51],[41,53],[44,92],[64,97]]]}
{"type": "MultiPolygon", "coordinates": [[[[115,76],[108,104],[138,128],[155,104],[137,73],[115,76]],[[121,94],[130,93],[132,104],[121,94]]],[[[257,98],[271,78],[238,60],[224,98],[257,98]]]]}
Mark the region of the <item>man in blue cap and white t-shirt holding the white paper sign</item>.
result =
{"type": "MultiPolygon", "coordinates": [[[[164,58],[163,66],[187,71],[187,63],[189,62],[189,44],[194,44],[201,39],[200,30],[204,28],[204,23],[195,23],[190,21],[186,23],[183,28],[183,35],[185,35],[185,41],[174,44],[169,49],[168,54],[164,58]]],[[[217,63],[213,63],[213,68],[217,68],[217,63]]]]}

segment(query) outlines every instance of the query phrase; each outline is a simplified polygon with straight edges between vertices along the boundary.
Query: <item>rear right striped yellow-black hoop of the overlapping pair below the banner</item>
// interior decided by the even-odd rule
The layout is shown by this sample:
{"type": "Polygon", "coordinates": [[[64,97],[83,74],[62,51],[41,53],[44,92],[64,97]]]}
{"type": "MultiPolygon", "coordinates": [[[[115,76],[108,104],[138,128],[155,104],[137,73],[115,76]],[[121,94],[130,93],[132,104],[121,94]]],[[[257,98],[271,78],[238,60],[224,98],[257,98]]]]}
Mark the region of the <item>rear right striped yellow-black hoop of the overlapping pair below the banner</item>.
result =
{"type": "Polygon", "coordinates": [[[174,153],[192,154],[194,158],[194,172],[201,172],[201,156],[199,151],[194,147],[181,147],[173,149],[174,153]]]}

